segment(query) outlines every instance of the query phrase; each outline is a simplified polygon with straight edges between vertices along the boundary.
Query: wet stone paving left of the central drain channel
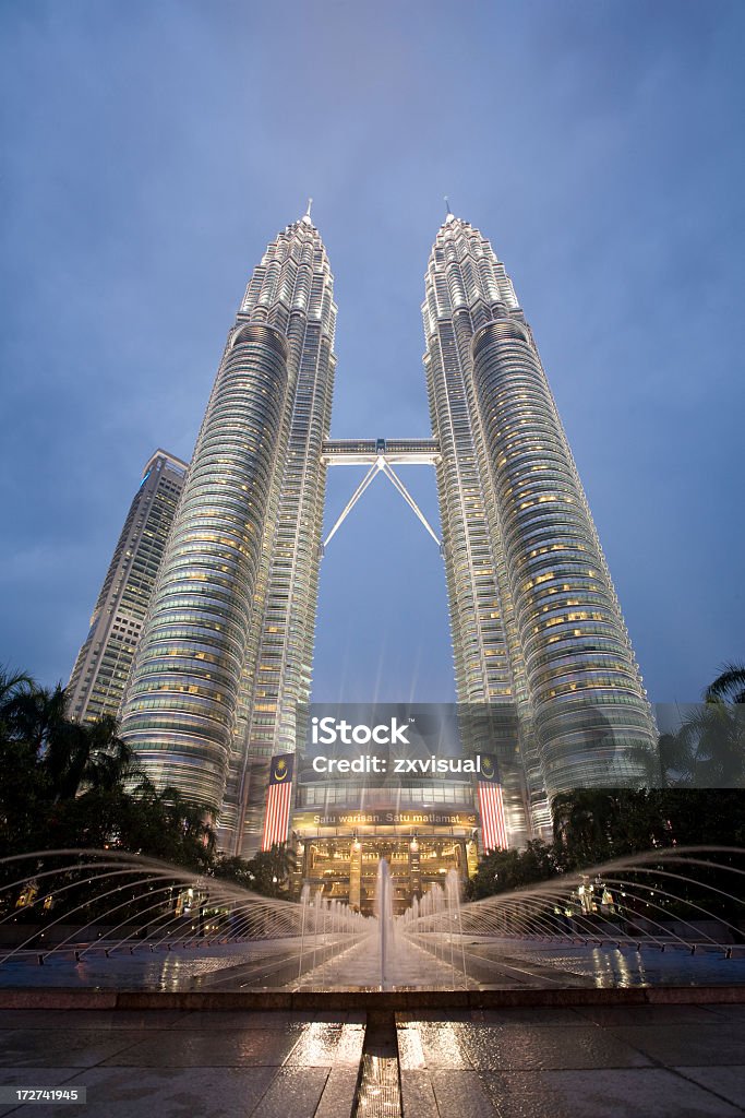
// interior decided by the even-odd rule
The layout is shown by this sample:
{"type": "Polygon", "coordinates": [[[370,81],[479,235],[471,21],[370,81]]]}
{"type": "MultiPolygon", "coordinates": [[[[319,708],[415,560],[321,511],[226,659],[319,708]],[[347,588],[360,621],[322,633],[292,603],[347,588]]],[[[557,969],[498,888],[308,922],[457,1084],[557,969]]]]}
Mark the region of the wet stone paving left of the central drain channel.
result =
{"type": "MultiPolygon", "coordinates": [[[[0,1083],[85,1087],[86,1118],[340,1118],[352,1109],[364,1018],[322,1017],[8,1011],[0,1083]]],[[[0,1115],[17,1109],[0,1105],[0,1115]]]]}

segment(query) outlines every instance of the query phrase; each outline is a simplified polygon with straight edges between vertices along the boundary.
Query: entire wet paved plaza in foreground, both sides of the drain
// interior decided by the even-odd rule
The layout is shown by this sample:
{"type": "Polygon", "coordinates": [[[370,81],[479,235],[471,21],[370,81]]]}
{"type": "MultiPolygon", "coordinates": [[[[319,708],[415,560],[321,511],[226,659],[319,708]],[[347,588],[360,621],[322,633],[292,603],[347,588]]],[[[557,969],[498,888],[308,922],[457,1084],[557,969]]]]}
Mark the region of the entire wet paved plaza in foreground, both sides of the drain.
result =
{"type": "MultiPolygon", "coordinates": [[[[745,1005],[0,1011],[0,1083],[84,1118],[698,1118],[745,1112],[745,1005]],[[388,1067],[392,1091],[371,1083],[388,1067]],[[398,1074],[397,1074],[398,1072],[398,1074]]],[[[13,1102],[0,1116],[29,1112],[13,1102]]],[[[35,1111],[31,1110],[31,1114],[35,1111]]]]}

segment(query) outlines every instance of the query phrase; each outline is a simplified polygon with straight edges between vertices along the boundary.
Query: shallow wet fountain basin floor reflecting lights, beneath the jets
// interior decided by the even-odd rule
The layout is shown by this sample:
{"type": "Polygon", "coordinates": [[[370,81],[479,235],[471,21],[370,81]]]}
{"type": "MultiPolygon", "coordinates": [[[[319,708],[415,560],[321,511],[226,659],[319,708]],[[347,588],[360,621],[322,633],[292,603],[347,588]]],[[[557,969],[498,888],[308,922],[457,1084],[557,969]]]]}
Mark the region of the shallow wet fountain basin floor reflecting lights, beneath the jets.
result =
{"type": "Polygon", "coordinates": [[[566,940],[505,939],[466,936],[401,938],[381,977],[380,942],[317,937],[256,940],[203,947],[146,946],[104,954],[105,945],[83,954],[25,951],[0,966],[0,987],[116,988],[123,991],[245,989],[505,989],[555,987],[718,986],[745,984],[745,954],[735,947],[690,949],[658,944],[571,944],[566,940]]]}

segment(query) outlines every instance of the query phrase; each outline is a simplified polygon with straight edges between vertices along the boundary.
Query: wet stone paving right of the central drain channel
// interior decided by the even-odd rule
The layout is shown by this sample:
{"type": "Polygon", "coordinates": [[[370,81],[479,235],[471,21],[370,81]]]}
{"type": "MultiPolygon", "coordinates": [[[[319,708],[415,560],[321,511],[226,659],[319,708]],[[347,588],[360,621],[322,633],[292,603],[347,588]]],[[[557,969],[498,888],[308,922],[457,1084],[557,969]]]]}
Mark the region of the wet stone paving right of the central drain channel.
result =
{"type": "Polygon", "coordinates": [[[408,1118],[680,1118],[745,1108],[745,1006],[398,1015],[408,1118]]]}

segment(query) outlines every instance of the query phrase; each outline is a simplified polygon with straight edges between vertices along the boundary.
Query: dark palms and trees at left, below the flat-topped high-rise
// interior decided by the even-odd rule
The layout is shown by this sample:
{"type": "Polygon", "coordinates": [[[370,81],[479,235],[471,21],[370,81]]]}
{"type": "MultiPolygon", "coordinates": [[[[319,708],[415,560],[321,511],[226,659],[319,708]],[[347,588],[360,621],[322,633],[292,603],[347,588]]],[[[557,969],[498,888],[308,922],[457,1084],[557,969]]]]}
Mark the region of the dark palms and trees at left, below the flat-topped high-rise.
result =
{"type": "Polygon", "coordinates": [[[106,847],[207,869],[212,809],[157,790],[116,719],[69,719],[61,686],[0,670],[0,849],[106,847]]]}

